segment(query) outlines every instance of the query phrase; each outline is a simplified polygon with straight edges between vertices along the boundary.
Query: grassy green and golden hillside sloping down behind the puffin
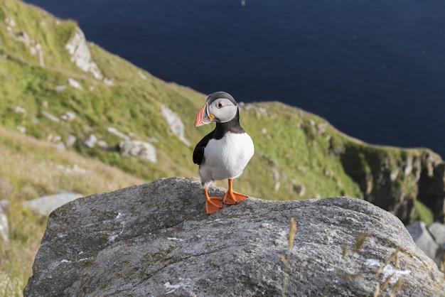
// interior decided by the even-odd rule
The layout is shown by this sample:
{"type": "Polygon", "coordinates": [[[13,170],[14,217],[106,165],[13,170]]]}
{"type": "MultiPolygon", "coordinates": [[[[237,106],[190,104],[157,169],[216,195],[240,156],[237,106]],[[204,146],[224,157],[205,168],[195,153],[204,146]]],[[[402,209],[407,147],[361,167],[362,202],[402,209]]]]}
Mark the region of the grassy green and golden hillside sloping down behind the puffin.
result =
{"type": "MultiPolygon", "coordinates": [[[[0,295],[2,274],[12,280],[4,282],[4,291],[31,275],[45,225],[19,202],[55,188],[88,195],[156,178],[198,176],[194,144],[213,129],[193,126],[205,97],[82,40],[75,21],[0,0],[0,200],[9,200],[11,222],[11,241],[0,249],[0,295]],[[73,40],[83,66],[67,48],[73,40]],[[168,123],[165,107],[181,121],[183,135],[168,123]],[[106,146],[85,146],[92,134],[106,146]],[[156,161],[122,156],[124,139],[151,144],[156,161]],[[87,174],[63,173],[55,164],[80,166],[87,174]]],[[[434,187],[443,178],[437,169],[443,162],[429,149],[364,144],[321,117],[279,102],[240,105],[256,151],[235,190],[270,200],[346,195],[370,200],[403,222],[443,220],[427,208],[437,207],[428,195],[437,194],[434,187]]]]}

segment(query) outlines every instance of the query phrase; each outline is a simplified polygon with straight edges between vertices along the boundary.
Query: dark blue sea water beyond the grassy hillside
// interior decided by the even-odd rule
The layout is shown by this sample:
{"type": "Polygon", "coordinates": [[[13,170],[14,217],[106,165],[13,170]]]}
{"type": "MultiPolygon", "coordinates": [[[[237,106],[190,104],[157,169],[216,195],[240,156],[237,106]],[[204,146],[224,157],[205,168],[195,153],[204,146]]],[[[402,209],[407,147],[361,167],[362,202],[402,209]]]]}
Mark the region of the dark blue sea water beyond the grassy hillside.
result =
{"type": "Polygon", "coordinates": [[[445,1],[28,0],[163,80],[445,156],[445,1]]]}

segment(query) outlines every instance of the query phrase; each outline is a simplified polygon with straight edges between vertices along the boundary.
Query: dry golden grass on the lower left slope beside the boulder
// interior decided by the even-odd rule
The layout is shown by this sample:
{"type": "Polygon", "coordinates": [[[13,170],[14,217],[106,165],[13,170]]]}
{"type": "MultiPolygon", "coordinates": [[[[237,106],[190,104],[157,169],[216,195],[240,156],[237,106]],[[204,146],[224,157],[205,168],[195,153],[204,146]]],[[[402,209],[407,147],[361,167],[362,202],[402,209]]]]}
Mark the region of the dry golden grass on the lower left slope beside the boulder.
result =
{"type": "Polygon", "coordinates": [[[144,180],[45,141],[0,127],[0,200],[8,200],[9,242],[0,239],[0,296],[21,296],[46,225],[21,202],[56,189],[83,195],[109,192],[144,180]]]}

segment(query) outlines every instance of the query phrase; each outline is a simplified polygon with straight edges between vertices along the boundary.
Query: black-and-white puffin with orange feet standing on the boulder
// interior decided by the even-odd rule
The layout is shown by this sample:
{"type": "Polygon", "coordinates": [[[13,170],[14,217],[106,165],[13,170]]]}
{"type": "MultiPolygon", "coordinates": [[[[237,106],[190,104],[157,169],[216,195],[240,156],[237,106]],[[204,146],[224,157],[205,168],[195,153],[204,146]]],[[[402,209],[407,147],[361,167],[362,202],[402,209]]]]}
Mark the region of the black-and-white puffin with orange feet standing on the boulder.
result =
{"type": "Polygon", "coordinates": [[[240,125],[240,109],[232,95],[214,92],[205,99],[199,110],[195,127],[215,122],[213,131],[204,136],[193,151],[193,163],[199,165],[199,175],[205,195],[205,211],[208,215],[227,205],[236,204],[247,195],[236,193],[232,182],[244,171],[254,155],[252,138],[240,125]],[[223,198],[210,197],[208,186],[214,180],[228,179],[228,189],[223,198]]]}

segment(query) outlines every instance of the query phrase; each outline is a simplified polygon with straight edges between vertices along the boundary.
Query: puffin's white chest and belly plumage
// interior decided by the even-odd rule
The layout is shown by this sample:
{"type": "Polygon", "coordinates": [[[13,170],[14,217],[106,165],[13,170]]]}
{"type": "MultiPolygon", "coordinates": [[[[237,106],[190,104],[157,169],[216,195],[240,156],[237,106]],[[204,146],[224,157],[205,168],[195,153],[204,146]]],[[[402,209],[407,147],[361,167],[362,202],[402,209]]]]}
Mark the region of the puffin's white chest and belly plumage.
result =
{"type": "Polygon", "coordinates": [[[210,139],[199,172],[205,180],[237,178],[254,154],[249,134],[227,132],[222,139],[210,139]]]}

